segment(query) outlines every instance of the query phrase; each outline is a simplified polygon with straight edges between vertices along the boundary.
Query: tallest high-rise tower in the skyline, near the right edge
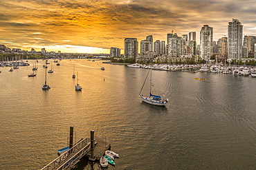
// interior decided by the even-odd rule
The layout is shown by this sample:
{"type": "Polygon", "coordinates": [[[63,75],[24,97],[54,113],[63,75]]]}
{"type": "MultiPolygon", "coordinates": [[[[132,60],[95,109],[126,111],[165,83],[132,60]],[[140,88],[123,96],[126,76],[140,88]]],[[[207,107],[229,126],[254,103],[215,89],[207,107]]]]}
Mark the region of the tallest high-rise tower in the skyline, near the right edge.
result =
{"type": "Polygon", "coordinates": [[[228,23],[228,59],[242,58],[243,26],[238,19],[228,23]]]}

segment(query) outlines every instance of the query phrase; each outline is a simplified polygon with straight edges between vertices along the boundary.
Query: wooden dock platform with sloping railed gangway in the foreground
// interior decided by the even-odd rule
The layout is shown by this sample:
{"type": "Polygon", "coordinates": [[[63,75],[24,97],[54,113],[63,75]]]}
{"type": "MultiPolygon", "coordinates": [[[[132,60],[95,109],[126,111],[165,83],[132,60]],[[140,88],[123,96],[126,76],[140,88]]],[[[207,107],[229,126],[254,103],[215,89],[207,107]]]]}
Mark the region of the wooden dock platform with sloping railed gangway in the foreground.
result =
{"type": "Polygon", "coordinates": [[[71,149],[68,149],[68,151],[65,151],[55,160],[47,164],[44,168],[42,168],[42,170],[72,169],[84,156],[89,157],[89,160],[91,161],[100,160],[100,157],[103,156],[104,152],[109,149],[109,147],[110,143],[106,138],[94,138],[94,131],[93,134],[91,131],[91,138],[84,138],[80,140],[76,145],[71,147],[71,149]]]}

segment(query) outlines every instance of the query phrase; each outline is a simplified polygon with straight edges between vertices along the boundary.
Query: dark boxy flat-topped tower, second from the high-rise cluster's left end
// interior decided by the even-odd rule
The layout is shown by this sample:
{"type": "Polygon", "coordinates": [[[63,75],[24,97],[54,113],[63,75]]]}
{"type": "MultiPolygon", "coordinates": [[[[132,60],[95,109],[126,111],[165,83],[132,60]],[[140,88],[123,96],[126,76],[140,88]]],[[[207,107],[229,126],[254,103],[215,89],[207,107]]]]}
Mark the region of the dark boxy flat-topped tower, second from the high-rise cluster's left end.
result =
{"type": "Polygon", "coordinates": [[[125,38],[125,58],[131,59],[138,55],[138,41],[136,38],[125,38]]]}

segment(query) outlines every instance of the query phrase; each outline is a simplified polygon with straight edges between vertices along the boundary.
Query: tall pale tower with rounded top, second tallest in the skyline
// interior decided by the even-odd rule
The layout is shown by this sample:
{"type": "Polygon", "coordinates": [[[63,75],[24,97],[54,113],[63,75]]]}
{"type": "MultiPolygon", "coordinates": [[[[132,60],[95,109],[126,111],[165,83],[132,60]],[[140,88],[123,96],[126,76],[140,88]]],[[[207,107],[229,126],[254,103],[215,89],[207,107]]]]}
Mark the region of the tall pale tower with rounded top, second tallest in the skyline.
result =
{"type": "Polygon", "coordinates": [[[203,25],[200,31],[200,56],[205,61],[209,61],[212,56],[213,28],[203,25]]]}

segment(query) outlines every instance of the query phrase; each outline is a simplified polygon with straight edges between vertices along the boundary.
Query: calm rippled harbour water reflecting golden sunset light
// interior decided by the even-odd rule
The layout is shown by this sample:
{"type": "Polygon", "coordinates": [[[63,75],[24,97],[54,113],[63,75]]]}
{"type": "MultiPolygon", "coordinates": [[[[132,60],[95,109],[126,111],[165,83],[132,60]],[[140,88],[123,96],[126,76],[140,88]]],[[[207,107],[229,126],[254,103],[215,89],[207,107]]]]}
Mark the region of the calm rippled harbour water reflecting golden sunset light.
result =
{"type": "MultiPolygon", "coordinates": [[[[41,169],[67,146],[70,126],[77,141],[90,130],[107,137],[120,155],[108,169],[256,167],[256,78],[154,70],[154,92],[169,98],[155,107],[138,98],[148,70],[62,60],[44,91],[44,61],[35,77],[27,76],[29,63],[14,72],[0,67],[0,169],[41,169]],[[73,65],[82,92],[75,92],[73,65]]],[[[92,168],[101,169],[86,160],[77,167],[92,168]]]]}

